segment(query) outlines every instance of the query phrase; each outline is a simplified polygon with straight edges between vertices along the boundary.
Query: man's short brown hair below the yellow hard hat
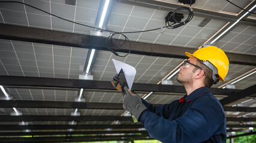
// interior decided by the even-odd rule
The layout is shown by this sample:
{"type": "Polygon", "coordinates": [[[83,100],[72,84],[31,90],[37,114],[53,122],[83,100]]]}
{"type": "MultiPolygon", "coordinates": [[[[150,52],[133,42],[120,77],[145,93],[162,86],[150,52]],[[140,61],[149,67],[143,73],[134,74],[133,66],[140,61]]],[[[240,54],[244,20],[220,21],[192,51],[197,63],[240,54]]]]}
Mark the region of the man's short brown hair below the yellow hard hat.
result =
{"type": "MultiPolygon", "coordinates": [[[[212,70],[198,60],[197,60],[196,64],[197,64],[197,66],[201,67],[204,71],[204,85],[207,86],[208,88],[210,88],[214,83],[214,81],[212,79],[212,70]]],[[[194,70],[197,70],[197,68],[194,70]]],[[[194,70],[193,70],[193,72],[194,72],[194,70]]]]}

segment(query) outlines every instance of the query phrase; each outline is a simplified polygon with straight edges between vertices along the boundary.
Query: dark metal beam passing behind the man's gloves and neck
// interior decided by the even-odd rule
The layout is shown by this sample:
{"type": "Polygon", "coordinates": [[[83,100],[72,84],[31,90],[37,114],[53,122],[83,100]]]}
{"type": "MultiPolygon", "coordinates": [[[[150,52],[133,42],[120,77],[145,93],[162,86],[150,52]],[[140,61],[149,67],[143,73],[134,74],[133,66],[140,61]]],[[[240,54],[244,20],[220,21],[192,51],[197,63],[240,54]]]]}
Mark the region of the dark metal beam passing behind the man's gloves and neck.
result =
{"type": "MultiPolygon", "coordinates": [[[[84,89],[103,89],[116,91],[111,82],[97,80],[80,79],[56,79],[47,77],[23,77],[23,76],[0,76],[0,85],[3,86],[38,86],[55,88],[84,88],[84,89]]],[[[171,92],[185,94],[185,88],[177,85],[153,85],[144,83],[134,83],[134,91],[145,92],[171,92]]],[[[214,95],[230,95],[231,92],[237,92],[237,89],[219,89],[211,88],[214,95]]]]}

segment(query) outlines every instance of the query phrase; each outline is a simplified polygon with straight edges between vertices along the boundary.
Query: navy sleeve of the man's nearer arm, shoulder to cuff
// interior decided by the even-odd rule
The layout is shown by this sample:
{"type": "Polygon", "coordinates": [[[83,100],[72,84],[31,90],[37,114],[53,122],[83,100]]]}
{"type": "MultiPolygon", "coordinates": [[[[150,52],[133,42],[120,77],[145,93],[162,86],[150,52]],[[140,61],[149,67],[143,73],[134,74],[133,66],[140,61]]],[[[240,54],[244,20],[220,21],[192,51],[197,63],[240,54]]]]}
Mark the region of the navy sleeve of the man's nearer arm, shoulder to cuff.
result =
{"type": "Polygon", "coordinates": [[[152,138],[161,142],[203,142],[224,123],[225,114],[215,100],[195,100],[176,120],[165,119],[146,110],[140,122],[152,138]]]}

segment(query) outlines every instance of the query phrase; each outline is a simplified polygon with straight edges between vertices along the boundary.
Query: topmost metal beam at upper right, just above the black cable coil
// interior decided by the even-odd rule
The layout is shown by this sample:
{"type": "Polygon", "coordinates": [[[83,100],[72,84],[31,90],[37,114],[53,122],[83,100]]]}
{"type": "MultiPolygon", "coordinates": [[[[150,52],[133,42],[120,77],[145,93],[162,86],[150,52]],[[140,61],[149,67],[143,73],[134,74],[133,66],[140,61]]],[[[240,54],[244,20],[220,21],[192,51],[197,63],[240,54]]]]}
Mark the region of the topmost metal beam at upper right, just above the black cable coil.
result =
{"type": "MultiPolygon", "coordinates": [[[[147,8],[153,8],[156,10],[164,10],[164,11],[174,11],[177,8],[180,7],[188,7],[189,5],[183,5],[183,4],[177,4],[174,2],[170,1],[148,1],[148,0],[115,0],[116,2],[122,2],[124,4],[129,4],[129,5],[137,5],[140,7],[147,7],[147,8]]],[[[255,4],[255,1],[252,2],[252,4],[255,4]]],[[[195,16],[198,17],[204,17],[204,18],[212,18],[216,20],[222,20],[222,21],[236,21],[239,17],[237,14],[228,14],[228,13],[223,13],[218,12],[215,10],[206,10],[200,7],[194,7],[192,5],[192,10],[195,16]]],[[[242,10],[241,10],[242,11],[242,10]]],[[[241,20],[241,24],[245,25],[250,25],[250,26],[256,26],[255,20],[251,18],[243,18],[241,20]]]]}

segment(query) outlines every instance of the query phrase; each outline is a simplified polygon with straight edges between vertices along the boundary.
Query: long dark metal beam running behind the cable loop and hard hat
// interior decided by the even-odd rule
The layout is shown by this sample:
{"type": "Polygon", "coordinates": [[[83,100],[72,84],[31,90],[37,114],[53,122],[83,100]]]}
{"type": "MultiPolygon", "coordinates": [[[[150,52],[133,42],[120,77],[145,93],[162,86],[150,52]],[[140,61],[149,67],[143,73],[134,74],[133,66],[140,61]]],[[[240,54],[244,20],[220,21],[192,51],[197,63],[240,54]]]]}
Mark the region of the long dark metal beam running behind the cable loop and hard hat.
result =
{"type": "MultiPolygon", "coordinates": [[[[79,48],[92,48],[109,51],[106,46],[106,39],[99,36],[82,35],[78,33],[68,33],[55,30],[38,29],[33,27],[14,26],[10,24],[0,24],[0,38],[16,41],[46,43],[50,45],[73,46],[79,48]]],[[[124,42],[121,39],[113,39],[114,43],[124,42]]],[[[194,52],[196,49],[179,46],[158,45],[154,43],[131,42],[131,54],[150,55],[169,58],[187,58],[184,52],[194,52]]],[[[110,46],[110,45],[109,45],[110,46]]],[[[128,52],[129,44],[121,48],[110,46],[117,52],[128,52]]],[[[235,54],[226,52],[231,64],[244,64],[256,66],[255,55],[235,54]]]]}

